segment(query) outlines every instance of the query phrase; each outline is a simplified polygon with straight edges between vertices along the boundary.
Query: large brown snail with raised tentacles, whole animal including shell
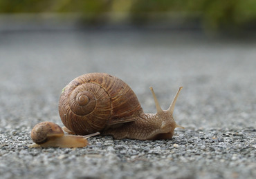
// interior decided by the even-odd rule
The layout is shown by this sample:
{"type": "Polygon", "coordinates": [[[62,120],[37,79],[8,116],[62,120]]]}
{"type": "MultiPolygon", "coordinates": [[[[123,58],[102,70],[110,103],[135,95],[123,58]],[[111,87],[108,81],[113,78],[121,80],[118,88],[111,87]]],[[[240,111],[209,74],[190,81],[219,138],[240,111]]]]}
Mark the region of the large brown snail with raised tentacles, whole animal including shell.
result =
{"type": "Polygon", "coordinates": [[[172,114],[182,87],[167,110],[161,109],[153,88],[150,89],[156,114],[144,113],[136,94],[120,78],[104,73],[78,76],[64,87],[60,96],[64,130],[78,135],[100,131],[116,139],[170,139],[174,129],[181,127],[172,114]]]}

